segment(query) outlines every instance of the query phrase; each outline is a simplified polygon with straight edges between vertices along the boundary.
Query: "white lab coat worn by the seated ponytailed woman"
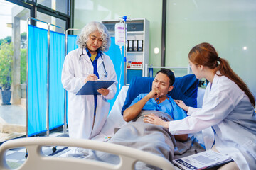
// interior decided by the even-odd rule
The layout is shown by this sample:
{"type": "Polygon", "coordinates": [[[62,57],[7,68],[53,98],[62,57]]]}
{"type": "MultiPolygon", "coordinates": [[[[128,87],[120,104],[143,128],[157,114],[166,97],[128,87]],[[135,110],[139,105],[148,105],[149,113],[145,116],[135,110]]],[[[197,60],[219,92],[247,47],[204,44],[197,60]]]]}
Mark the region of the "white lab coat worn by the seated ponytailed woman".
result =
{"type": "MultiPolygon", "coordinates": [[[[169,123],[171,134],[215,130],[215,147],[228,154],[242,170],[256,169],[256,115],[249,98],[230,79],[215,74],[202,108],[188,108],[188,117],[169,123]]],[[[213,146],[205,141],[206,149],[213,146]]]]}

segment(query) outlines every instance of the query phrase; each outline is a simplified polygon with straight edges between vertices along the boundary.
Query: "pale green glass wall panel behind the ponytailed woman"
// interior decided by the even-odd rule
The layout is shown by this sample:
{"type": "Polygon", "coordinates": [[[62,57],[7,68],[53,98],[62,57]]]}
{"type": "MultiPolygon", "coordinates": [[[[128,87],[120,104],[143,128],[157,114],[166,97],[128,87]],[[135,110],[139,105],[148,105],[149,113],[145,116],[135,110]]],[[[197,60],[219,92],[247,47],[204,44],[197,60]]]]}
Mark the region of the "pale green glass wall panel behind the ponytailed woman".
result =
{"type": "Polygon", "coordinates": [[[166,66],[186,66],[191,48],[209,42],[256,96],[255,6],[253,0],[167,1],[166,66]]]}

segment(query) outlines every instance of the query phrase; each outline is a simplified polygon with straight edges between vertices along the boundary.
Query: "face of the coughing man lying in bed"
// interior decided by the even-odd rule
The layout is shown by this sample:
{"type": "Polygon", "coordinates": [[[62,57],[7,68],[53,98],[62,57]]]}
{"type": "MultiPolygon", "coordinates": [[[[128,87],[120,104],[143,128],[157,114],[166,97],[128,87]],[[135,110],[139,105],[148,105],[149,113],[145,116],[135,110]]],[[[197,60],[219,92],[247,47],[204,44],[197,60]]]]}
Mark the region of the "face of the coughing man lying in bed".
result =
{"type": "Polygon", "coordinates": [[[169,86],[169,80],[170,79],[168,76],[166,76],[166,74],[163,74],[161,72],[159,72],[159,74],[156,74],[156,77],[154,78],[154,81],[152,83],[152,88],[159,89],[159,91],[164,94],[160,97],[165,97],[166,94],[174,88],[174,86],[169,86]]]}

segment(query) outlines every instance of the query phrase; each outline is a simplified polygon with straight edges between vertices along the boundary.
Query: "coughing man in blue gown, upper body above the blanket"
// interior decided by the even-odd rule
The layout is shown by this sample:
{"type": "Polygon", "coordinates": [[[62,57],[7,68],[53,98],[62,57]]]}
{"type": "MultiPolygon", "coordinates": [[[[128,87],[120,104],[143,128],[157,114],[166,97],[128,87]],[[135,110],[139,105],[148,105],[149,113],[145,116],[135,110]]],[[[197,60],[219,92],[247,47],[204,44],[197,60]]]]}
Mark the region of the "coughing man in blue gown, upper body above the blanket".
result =
{"type": "MultiPolygon", "coordinates": [[[[124,111],[124,120],[129,122],[137,118],[141,111],[161,111],[171,115],[173,120],[181,120],[186,117],[183,111],[171,96],[168,95],[174,86],[174,72],[170,69],[161,69],[156,73],[152,83],[152,90],[148,94],[140,94],[132,101],[129,108],[124,111]]],[[[186,141],[188,135],[175,135],[176,140],[186,141]]]]}

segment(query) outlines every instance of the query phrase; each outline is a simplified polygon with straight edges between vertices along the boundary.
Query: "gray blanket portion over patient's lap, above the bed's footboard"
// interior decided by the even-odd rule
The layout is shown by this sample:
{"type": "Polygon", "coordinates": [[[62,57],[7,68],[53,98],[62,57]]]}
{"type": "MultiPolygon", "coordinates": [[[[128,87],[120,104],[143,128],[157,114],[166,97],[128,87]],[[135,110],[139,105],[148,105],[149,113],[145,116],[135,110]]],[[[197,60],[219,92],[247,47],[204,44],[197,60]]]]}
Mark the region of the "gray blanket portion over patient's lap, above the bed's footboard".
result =
{"type": "Polygon", "coordinates": [[[160,125],[144,123],[144,115],[150,113],[159,115],[168,121],[172,120],[170,115],[160,111],[142,111],[135,120],[118,130],[108,142],[151,152],[172,160],[174,158],[174,137],[168,129],[160,125]]]}

